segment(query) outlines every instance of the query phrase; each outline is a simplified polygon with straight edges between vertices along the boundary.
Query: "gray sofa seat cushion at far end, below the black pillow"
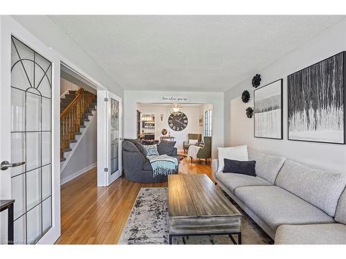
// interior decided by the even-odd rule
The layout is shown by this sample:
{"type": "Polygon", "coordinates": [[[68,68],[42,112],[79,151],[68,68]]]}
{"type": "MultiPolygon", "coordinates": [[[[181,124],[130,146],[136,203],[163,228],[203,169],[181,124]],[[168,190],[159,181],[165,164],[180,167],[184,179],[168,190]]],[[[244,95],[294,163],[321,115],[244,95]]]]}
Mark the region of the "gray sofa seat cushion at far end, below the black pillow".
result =
{"type": "Polygon", "coordinates": [[[239,173],[217,172],[215,173],[215,177],[233,193],[235,193],[235,189],[239,186],[271,185],[270,182],[263,178],[239,173]]]}

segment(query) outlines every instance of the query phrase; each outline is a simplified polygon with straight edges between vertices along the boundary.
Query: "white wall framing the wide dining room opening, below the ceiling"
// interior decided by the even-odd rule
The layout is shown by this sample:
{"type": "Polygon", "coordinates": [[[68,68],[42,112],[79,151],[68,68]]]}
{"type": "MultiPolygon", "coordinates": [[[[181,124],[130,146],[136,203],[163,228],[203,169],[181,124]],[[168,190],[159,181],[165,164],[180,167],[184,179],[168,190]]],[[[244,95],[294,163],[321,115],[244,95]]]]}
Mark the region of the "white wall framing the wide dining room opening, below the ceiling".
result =
{"type": "MultiPolygon", "coordinates": [[[[124,137],[136,138],[136,104],[159,103],[161,95],[179,95],[189,97],[191,104],[212,104],[212,157],[217,157],[217,147],[224,146],[224,93],[194,92],[159,92],[159,91],[127,91],[124,99],[124,137]]],[[[189,118],[190,119],[190,118],[189,118]]],[[[190,123],[190,122],[189,122],[190,123]]],[[[197,120],[198,123],[198,120],[197,120]]],[[[198,125],[198,124],[197,124],[198,125]]]]}

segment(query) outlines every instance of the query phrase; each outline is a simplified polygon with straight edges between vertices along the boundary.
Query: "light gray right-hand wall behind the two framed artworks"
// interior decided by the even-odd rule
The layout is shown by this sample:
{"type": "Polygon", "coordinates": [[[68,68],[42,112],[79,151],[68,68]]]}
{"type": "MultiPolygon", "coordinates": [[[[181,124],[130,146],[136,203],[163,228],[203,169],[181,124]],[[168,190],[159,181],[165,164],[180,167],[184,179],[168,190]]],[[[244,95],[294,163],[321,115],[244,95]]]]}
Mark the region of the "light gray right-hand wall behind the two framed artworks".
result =
{"type": "Polygon", "coordinates": [[[346,171],[346,145],[322,144],[312,142],[297,142],[287,140],[287,75],[302,68],[315,64],[322,59],[346,50],[346,19],[336,23],[324,32],[299,46],[270,66],[254,71],[262,77],[261,86],[277,79],[284,79],[284,140],[266,140],[253,137],[253,119],[248,119],[245,109],[253,107],[253,75],[237,84],[224,94],[224,121],[225,144],[247,144],[249,148],[277,155],[284,155],[288,159],[302,162],[328,171],[346,171]],[[242,104],[239,98],[244,90],[251,93],[251,102],[242,104]]]}

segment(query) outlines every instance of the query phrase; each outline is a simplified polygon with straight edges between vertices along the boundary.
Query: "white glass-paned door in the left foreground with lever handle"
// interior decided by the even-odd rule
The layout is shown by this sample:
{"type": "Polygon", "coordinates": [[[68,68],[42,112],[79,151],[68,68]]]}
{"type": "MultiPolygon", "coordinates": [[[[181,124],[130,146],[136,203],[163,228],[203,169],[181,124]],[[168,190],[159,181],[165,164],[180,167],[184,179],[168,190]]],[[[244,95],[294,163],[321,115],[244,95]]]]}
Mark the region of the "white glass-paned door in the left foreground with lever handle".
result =
{"type": "MultiPolygon", "coordinates": [[[[15,20],[0,19],[0,199],[15,200],[15,244],[50,244],[60,236],[60,60],[15,20]]],[[[4,230],[3,211],[1,242],[4,230]]]]}

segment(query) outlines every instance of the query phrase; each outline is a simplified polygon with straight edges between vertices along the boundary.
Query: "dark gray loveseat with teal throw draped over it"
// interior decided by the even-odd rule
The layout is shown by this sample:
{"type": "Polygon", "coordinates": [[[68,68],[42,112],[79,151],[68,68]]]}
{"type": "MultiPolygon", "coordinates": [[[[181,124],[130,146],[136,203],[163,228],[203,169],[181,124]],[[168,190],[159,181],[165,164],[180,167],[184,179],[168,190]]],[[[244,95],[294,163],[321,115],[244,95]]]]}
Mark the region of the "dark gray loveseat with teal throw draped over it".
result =
{"type": "MultiPolygon", "coordinates": [[[[165,148],[158,147],[158,153],[160,153],[160,155],[165,154],[177,157],[176,148],[172,148],[170,152],[167,152],[165,148]]],[[[152,165],[147,157],[145,157],[143,147],[136,143],[136,140],[124,140],[124,142],[122,142],[122,167],[124,169],[125,178],[131,182],[150,183],[167,181],[167,175],[157,175],[154,177],[152,165]]]]}

